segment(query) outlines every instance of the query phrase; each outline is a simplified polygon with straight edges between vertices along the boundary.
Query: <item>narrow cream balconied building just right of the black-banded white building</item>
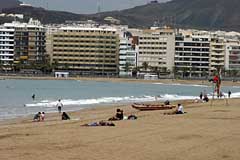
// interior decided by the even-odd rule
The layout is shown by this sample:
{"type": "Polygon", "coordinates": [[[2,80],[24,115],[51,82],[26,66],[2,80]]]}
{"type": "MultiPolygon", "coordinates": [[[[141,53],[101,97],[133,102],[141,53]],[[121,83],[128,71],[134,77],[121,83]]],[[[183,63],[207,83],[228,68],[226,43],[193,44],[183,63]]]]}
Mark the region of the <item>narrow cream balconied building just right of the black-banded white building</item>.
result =
{"type": "Polygon", "coordinates": [[[225,39],[217,35],[211,36],[210,42],[210,72],[218,72],[225,66],[225,39]]]}

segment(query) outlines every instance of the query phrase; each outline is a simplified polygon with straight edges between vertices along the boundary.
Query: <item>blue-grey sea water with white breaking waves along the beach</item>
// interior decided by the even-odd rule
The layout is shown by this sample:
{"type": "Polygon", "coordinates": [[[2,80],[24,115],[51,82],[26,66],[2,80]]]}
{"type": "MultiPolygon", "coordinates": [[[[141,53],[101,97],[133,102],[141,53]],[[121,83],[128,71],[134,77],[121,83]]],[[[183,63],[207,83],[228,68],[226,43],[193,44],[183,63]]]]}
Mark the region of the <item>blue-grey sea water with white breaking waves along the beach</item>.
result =
{"type": "MultiPolygon", "coordinates": [[[[240,87],[222,87],[226,94],[240,97],[240,87]]],[[[161,83],[97,82],[79,80],[0,80],[0,120],[56,112],[62,100],[64,111],[86,107],[157,100],[195,99],[200,92],[211,94],[212,87],[161,83]],[[35,94],[35,100],[32,95],[35,94]]]]}

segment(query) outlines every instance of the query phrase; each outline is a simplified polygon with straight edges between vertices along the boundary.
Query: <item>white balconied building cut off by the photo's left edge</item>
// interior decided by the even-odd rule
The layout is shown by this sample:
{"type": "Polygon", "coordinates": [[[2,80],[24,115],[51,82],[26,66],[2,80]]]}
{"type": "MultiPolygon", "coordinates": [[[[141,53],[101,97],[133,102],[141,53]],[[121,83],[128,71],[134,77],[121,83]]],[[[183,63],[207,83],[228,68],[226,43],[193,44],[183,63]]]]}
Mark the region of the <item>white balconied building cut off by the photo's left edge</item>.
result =
{"type": "Polygon", "coordinates": [[[9,69],[14,61],[14,29],[0,28],[0,65],[9,69]]]}

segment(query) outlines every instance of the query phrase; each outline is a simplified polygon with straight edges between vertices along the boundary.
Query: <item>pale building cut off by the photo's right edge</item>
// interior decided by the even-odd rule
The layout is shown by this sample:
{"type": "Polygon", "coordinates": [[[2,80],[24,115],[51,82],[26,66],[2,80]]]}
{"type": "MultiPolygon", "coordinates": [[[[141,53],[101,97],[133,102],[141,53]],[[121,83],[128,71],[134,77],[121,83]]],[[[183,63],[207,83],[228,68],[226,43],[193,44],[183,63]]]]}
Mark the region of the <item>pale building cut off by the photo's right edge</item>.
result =
{"type": "Polygon", "coordinates": [[[239,70],[240,69],[240,41],[228,40],[226,42],[226,70],[239,70]]]}

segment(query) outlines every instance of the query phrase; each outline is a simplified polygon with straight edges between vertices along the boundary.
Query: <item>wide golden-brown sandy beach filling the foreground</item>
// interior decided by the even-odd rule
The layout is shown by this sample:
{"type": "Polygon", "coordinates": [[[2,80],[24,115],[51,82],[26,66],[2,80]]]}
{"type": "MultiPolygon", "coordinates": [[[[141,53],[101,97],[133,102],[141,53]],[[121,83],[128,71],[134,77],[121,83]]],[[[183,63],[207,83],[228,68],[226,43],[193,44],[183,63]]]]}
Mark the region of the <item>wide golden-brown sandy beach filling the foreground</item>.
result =
{"type": "MultiPolygon", "coordinates": [[[[175,104],[178,102],[174,102],[175,104]]],[[[130,105],[90,108],[46,114],[45,122],[32,117],[0,124],[0,159],[3,160],[237,160],[240,159],[240,99],[211,103],[183,101],[184,115],[166,111],[140,112],[130,105]],[[114,127],[83,127],[106,120],[116,108],[137,120],[114,122],[114,127]]]]}

